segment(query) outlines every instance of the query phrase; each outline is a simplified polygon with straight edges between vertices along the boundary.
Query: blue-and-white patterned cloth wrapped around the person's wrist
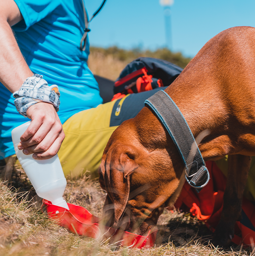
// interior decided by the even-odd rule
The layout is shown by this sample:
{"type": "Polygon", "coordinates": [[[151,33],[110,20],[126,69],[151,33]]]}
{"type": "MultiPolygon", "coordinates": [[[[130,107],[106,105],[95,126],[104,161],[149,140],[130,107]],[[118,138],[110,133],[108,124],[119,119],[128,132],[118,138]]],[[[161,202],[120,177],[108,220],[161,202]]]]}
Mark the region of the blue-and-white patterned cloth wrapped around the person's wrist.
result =
{"type": "Polygon", "coordinates": [[[14,104],[17,111],[22,116],[27,117],[28,108],[38,102],[51,103],[55,110],[59,110],[60,93],[57,85],[48,86],[48,83],[39,74],[28,77],[20,87],[20,90],[14,92],[14,104]]]}

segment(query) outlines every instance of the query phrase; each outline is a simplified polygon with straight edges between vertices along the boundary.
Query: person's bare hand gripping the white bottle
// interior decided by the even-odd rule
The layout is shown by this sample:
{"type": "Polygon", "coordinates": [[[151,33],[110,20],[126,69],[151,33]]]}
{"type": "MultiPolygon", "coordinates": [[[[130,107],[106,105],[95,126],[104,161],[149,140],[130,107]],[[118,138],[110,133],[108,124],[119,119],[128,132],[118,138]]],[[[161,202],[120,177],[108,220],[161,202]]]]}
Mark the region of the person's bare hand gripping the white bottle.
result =
{"type": "Polygon", "coordinates": [[[38,160],[55,156],[65,134],[54,106],[38,102],[28,108],[27,116],[32,122],[20,137],[18,149],[25,155],[33,154],[33,158],[38,160]]]}

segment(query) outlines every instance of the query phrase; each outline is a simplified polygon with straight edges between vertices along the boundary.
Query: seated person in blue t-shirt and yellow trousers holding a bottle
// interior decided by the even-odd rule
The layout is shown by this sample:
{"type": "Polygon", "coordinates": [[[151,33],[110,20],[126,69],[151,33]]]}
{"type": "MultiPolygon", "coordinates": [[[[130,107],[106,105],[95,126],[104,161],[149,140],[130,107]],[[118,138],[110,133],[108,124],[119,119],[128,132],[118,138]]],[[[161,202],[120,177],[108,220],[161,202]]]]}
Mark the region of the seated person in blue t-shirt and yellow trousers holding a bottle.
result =
{"type": "Polygon", "coordinates": [[[31,119],[18,145],[24,154],[42,160],[58,152],[65,175],[96,172],[112,132],[157,91],[102,104],[88,38],[80,49],[82,1],[0,2],[1,158],[15,154],[12,129],[31,119]]]}

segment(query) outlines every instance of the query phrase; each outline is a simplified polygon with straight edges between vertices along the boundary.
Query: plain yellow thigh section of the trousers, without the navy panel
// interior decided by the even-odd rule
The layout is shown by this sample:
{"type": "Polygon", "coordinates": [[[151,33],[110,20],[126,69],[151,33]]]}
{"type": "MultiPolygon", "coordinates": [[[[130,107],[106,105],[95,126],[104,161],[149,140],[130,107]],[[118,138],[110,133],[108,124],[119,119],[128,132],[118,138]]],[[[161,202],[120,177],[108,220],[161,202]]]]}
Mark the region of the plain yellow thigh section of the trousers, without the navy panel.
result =
{"type": "Polygon", "coordinates": [[[65,139],[58,156],[65,176],[79,176],[86,170],[97,176],[105,146],[118,127],[109,127],[115,102],[81,111],[63,124],[65,139]]]}

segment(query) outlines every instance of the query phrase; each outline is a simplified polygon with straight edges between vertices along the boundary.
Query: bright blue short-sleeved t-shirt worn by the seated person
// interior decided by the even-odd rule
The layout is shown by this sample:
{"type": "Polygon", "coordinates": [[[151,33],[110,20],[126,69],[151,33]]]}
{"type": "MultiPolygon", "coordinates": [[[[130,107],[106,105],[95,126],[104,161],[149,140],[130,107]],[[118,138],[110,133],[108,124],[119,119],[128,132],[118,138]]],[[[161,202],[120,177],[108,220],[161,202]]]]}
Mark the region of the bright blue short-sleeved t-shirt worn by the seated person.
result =
{"type": "MultiPolygon", "coordinates": [[[[86,50],[79,49],[85,28],[82,0],[14,1],[24,18],[12,27],[18,45],[32,72],[59,86],[62,124],[101,104],[98,84],[87,66],[88,39],[86,50]]],[[[17,112],[12,93],[1,83],[0,90],[0,157],[8,157],[15,154],[12,129],[29,119],[17,112]]]]}

